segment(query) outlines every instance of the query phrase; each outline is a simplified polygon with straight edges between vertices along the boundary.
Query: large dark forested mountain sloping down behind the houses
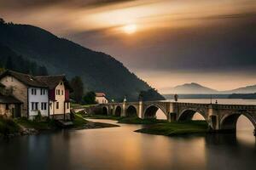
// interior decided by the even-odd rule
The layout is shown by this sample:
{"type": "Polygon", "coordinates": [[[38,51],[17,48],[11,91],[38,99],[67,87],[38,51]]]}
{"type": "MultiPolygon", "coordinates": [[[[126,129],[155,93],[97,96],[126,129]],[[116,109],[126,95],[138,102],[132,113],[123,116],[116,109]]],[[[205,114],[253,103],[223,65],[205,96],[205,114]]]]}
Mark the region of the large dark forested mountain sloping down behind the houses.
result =
{"type": "MultiPolygon", "coordinates": [[[[84,48],[56,37],[36,26],[0,22],[0,43],[15,54],[45,65],[49,74],[67,78],[79,76],[85,91],[104,92],[109,99],[137,100],[141,91],[151,87],[108,54],[84,48]]],[[[157,91],[154,96],[164,99],[157,91]]]]}

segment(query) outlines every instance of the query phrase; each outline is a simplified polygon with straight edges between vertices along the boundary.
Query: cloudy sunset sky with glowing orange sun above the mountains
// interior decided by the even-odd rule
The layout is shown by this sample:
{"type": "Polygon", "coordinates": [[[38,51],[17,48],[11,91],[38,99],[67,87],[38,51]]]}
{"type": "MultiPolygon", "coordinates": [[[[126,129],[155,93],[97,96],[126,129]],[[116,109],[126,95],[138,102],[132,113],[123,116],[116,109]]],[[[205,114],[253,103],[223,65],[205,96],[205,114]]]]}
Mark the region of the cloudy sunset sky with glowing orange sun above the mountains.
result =
{"type": "Polygon", "coordinates": [[[255,0],[0,0],[0,17],[111,54],[163,94],[256,84],[255,0]]]}

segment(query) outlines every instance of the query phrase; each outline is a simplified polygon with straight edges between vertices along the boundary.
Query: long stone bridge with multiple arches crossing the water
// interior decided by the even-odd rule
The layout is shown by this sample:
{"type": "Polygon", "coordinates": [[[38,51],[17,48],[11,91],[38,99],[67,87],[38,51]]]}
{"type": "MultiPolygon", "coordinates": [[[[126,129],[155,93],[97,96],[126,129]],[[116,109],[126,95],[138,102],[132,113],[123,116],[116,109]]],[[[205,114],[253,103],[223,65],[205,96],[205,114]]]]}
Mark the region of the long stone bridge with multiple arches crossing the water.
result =
{"type": "Polygon", "coordinates": [[[103,114],[155,118],[160,109],[169,122],[191,120],[201,114],[213,131],[236,131],[236,122],[243,115],[253,123],[256,133],[256,105],[195,104],[168,101],[138,101],[98,105],[103,114]]]}

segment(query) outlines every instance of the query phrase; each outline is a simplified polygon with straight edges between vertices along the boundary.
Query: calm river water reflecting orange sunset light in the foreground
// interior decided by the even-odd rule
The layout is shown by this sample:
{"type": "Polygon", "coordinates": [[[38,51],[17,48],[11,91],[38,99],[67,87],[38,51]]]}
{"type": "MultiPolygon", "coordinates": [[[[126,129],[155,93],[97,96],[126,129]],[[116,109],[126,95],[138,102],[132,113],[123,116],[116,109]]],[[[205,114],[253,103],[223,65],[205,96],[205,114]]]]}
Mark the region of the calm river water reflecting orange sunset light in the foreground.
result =
{"type": "Polygon", "coordinates": [[[239,127],[236,135],[207,137],[169,138],[134,133],[142,126],[126,124],[20,137],[0,141],[0,167],[4,170],[255,169],[255,137],[247,124],[250,122],[241,123],[248,128],[239,127]]]}

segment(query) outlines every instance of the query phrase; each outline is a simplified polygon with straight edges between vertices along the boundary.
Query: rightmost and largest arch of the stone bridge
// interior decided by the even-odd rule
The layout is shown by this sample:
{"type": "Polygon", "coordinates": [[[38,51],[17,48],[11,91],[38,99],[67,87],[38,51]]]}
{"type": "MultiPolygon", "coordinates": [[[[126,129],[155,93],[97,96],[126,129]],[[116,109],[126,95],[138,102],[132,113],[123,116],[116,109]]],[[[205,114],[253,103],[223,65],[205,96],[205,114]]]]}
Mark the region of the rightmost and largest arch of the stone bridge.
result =
{"type": "Polygon", "coordinates": [[[224,115],[220,120],[220,129],[236,131],[236,123],[241,115],[246,116],[252,122],[254,129],[256,129],[256,120],[248,112],[224,115]]]}

